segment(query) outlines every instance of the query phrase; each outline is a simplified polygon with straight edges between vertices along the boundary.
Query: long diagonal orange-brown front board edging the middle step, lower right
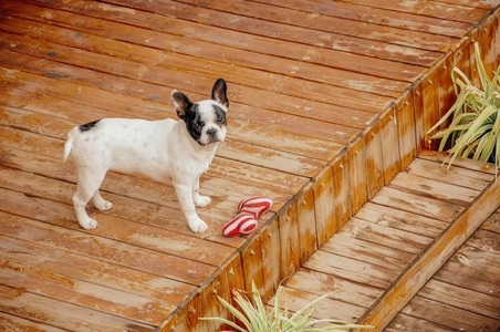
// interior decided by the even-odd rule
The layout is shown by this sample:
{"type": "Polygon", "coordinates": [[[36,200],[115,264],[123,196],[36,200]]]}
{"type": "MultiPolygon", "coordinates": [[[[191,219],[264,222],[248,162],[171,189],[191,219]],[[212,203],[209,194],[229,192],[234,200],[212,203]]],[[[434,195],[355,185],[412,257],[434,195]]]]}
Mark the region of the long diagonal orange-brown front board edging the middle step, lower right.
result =
{"type": "MultiPolygon", "coordinates": [[[[447,260],[452,250],[462,245],[480,224],[498,208],[500,201],[500,184],[492,183],[482,196],[466,211],[456,216],[456,221],[427,249],[404,276],[388,290],[385,295],[374,305],[371,311],[360,320],[372,324],[377,330],[384,329],[396,312],[418,292],[418,290],[440,268],[440,262],[447,260]],[[389,309],[390,307],[390,309],[389,309]]],[[[442,311],[439,315],[442,317],[442,311]]]]}

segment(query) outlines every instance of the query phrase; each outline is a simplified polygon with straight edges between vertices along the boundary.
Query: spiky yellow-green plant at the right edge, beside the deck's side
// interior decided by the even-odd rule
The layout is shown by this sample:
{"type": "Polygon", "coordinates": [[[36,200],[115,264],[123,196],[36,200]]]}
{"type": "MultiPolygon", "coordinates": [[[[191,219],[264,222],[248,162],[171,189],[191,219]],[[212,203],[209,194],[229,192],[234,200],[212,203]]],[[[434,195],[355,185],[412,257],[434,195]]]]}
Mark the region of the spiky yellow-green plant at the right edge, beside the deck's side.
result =
{"type": "Polygon", "coordinates": [[[466,157],[492,162],[498,175],[500,168],[500,66],[490,79],[481,61],[478,43],[473,46],[481,87],[476,87],[462,71],[454,68],[451,81],[457,101],[429,133],[452,116],[447,128],[430,137],[441,139],[439,151],[451,146],[448,149],[448,167],[457,157],[466,157]]]}

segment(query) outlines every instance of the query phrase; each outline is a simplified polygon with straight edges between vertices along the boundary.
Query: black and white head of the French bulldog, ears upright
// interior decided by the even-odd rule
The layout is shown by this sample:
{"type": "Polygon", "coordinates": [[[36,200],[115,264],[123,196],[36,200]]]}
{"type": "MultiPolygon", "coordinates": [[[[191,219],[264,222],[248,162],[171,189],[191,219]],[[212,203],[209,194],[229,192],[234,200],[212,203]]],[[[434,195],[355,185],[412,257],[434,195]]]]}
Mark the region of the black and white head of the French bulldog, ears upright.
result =
{"type": "Polygon", "coordinates": [[[171,92],[177,115],[186,123],[189,135],[199,145],[222,142],[226,138],[226,113],[229,107],[227,90],[226,81],[219,79],[211,90],[211,100],[198,103],[192,103],[180,91],[171,92]]]}

